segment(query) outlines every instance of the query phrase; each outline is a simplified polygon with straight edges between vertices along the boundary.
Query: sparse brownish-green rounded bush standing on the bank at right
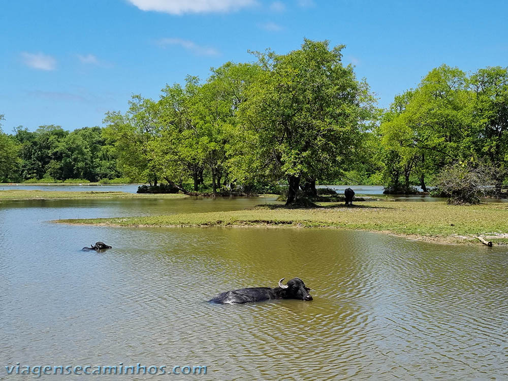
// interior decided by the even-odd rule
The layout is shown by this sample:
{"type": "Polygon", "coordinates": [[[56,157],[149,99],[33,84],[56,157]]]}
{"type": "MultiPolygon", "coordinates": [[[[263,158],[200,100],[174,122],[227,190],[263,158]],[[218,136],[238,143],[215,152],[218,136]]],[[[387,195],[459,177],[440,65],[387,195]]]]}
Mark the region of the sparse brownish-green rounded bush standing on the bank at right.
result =
{"type": "Polygon", "coordinates": [[[445,167],[436,178],[433,194],[448,197],[449,204],[478,204],[494,185],[495,168],[472,163],[445,167]]]}

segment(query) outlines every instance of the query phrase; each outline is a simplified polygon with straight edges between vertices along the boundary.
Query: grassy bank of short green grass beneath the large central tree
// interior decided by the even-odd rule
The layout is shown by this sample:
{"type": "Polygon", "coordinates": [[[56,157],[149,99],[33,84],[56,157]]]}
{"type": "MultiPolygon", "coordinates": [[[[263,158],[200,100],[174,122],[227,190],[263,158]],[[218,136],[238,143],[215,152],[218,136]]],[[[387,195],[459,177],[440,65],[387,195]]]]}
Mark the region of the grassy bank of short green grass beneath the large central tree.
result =
{"type": "Polygon", "coordinates": [[[508,242],[508,204],[454,206],[444,202],[377,201],[357,204],[351,208],[341,204],[323,205],[321,203],[322,207],[313,209],[268,205],[228,212],[67,219],[55,222],[122,227],[337,228],[384,232],[447,243],[476,242],[477,235],[495,236],[496,242],[508,242]]]}

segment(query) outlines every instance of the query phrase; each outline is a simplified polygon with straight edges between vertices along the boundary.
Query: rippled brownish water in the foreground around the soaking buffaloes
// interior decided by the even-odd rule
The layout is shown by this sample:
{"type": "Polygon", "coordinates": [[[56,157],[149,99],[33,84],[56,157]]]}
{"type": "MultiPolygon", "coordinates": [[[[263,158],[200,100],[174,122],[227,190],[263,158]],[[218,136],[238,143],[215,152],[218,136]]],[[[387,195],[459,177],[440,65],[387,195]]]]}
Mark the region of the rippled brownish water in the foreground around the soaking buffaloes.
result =
{"type": "MultiPolygon", "coordinates": [[[[264,200],[0,204],[0,379],[27,379],[7,375],[5,366],[18,362],[208,367],[206,375],[172,379],[508,378],[506,248],[338,230],[46,222],[258,203],[264,200]],[[79,250],[99,240],[113,249],[79,250]],[[206,302],[294,276],[313,301],[206,302]]],[[[101,376],[118,377],[166,376],[101,376]]]]}

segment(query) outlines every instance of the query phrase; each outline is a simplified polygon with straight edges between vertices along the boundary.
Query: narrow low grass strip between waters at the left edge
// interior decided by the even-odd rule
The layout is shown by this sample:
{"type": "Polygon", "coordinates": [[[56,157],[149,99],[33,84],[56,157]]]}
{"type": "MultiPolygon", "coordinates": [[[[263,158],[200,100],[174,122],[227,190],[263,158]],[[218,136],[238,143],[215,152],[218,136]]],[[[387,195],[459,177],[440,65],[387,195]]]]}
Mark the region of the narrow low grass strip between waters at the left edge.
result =
{"type": "Polygon", "coordinates": [[[69,200],[69,199],[177,199],[187,197],[182,194],[136,194],[125,192],[73,192],[66,190],[0,190],[0,202],[3,200],[69,200]]]}

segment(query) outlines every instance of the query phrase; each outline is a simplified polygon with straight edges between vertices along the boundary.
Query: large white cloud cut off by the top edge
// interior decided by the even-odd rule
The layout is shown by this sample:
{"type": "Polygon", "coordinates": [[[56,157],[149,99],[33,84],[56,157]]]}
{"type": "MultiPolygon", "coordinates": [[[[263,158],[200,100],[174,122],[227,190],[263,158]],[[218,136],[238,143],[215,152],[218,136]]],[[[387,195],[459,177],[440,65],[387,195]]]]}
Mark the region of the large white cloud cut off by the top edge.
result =
{"type": "Polygon", "coordinates": [[[172,15],[236,11],[256,4],[256,0],[127,0],[142,11],[172,15]]]}

